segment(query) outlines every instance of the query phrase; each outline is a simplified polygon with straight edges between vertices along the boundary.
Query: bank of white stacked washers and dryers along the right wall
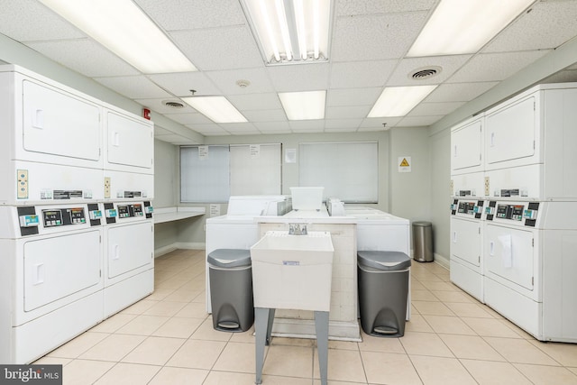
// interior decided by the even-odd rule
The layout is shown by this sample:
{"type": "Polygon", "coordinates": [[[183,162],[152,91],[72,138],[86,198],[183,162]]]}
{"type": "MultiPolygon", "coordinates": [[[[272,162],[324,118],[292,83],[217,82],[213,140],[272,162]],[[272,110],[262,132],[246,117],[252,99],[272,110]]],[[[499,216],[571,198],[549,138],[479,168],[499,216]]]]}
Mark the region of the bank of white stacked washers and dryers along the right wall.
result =
{"type": "Polygon", "coordinates": [[[541,341],[577,343],[576,105],[577,84],[541,85],[474,118],[481,134],[452,132],[451,279],[475,297],[481,282],[481,301],[541,341]],[[479,142],[481,165],[455,161],[479,142]],[[481,280],[463,268],[469,201],[483,204],[467,251],[481,256],[481,280]]]}

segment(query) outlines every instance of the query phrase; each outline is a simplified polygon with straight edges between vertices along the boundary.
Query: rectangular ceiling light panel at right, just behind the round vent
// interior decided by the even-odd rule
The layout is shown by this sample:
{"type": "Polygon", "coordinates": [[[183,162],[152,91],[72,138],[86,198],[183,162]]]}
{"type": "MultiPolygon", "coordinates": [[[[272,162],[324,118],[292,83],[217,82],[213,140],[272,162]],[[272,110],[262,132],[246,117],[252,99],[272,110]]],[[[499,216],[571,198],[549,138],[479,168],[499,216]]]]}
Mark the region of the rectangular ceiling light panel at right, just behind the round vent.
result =
{"type": "Polygon", "coordinates": [[[437,86],[387,87],[367,117],[405,116],[437,86]]]}

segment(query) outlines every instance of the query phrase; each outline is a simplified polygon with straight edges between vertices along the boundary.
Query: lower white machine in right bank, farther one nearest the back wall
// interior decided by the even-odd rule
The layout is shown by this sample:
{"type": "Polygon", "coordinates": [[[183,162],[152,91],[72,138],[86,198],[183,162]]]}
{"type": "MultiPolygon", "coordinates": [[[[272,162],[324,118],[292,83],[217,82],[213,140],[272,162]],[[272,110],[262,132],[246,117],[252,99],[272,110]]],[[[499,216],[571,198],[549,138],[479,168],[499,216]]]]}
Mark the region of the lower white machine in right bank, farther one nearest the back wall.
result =
{"type": "Polygon", "coordinates": [[[454,197],[451,205],[451,281],[484,302],[483,226],[485,202],[475,197],[454,197]]]}

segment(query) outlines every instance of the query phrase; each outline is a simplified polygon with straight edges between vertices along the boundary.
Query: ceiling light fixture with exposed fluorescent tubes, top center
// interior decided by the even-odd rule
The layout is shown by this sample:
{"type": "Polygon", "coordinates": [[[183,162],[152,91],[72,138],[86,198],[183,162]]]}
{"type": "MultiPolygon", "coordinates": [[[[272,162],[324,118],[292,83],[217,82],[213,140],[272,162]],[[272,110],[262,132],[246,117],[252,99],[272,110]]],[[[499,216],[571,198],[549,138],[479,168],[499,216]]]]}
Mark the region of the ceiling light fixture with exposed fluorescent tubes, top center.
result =
{"type": "Polygon", "coordinates": [[[267,63],[327,60],[331,0],[243,0],[267,63]]]}

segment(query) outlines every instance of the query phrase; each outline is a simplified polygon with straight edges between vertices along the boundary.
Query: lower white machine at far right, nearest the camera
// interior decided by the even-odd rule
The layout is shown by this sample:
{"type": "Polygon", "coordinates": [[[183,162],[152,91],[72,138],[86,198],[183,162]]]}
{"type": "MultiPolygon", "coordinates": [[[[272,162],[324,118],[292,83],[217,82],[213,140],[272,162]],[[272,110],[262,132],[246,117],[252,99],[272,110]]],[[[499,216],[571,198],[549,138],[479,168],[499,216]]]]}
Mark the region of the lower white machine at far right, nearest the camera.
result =
{"type": "Polygon", "coordinates": [[[485,302],[541,341],[577,342],[577,202],[489,201],[485,302]]]}

